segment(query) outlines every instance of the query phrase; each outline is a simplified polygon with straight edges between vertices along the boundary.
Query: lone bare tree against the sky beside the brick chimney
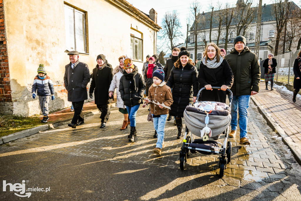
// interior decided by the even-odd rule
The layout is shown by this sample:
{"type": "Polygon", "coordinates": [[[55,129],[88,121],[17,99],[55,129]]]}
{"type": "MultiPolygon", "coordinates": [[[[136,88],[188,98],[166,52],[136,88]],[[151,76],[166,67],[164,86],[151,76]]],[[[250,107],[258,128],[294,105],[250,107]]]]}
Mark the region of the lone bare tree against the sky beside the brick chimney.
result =
{"type": "Polygon", "coordinates": [[[166,12],[162,19],[162,33],[160,39],[170,42],[169,49],[172,50],[178,37],[182,36],[181,24],[178,17],[178,12],[166,12]]]}

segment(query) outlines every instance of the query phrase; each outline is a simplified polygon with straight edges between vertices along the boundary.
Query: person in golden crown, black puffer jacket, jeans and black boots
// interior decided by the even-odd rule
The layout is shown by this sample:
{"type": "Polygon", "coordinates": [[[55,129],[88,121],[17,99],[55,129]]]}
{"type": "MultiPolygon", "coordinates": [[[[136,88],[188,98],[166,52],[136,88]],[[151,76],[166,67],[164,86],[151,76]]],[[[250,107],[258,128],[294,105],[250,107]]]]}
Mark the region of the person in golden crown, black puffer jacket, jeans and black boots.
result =
{"type": "Polygon", "coordinates": [[[123,100],[126,110],[129,113],[131,122],[131,131],[129,142],[134,142],[134,136],[137,135],[136,131],[136,113],[142,101],[142,97],[145,91],[145,83],[143,77],[138,73],[138,68],[132,62],[132,59],[126,57],[123,60],[123,76],[120,78],[119,92],[121,99],[123,100]],[[138,97],[136,97],[138,96],[138,97]]]}

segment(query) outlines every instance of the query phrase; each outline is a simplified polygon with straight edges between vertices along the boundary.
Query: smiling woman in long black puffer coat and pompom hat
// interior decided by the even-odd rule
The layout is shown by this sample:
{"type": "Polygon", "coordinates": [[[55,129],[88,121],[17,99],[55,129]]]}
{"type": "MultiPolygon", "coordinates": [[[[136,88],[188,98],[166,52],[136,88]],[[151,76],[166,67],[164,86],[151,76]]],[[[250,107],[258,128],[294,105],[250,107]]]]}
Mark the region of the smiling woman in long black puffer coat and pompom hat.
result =
{"type": "Polygon", "coordinates": [[[170,106],[169,113],[175,116],[175,122],[178,128],[177,139],[182,135],[182,117],[184,117],[184,110],[189,103],[197,100],[197,93],[199,91],[199,83],[197,81],[197,68],[189,59],[190,53],[185,47],[181,48],[179,59],[175,62],[172,68],[167,86],[172,88],[173,104],[170,106]]]}

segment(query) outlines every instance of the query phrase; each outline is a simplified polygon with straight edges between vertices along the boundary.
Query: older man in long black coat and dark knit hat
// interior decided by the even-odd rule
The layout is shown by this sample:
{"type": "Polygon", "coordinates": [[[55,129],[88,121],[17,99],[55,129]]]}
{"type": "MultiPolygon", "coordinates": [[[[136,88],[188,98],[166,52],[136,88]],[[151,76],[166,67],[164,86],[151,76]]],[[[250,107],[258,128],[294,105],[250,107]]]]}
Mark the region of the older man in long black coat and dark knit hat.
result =
{"type": "Polygon", "coordinates": [[[110,115],[108,111],[109,88],[113,79],[113,68],[108,66],[106,57],[103,54],[98,55],[96,61],[97,65],[93,69],[89,96],[92,98],[94,91],[95,104],[101,111],[100,128],[104,128],[110,115]]]}

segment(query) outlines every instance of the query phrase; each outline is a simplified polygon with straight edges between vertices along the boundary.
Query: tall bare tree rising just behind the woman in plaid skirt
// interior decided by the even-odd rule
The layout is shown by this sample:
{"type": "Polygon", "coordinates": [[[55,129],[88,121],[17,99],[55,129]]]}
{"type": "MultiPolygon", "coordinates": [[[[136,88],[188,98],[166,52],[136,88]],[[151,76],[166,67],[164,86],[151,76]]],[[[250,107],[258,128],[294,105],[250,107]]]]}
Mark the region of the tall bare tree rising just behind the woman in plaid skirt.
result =
{"type": "Polygon", "coordinates": [[[276,30],[277,30],[275,51],[274,51],[275,56],[278,55],[279,40],[280,40],[282,30],[287,22],[286,13],[289,10],[289,5],[290,4],[288,3],[288,0],[285,0],[284,2],[282,2],[282,0],[275,0],[274,9],[272,11],[276,19],[276,30]]]}

